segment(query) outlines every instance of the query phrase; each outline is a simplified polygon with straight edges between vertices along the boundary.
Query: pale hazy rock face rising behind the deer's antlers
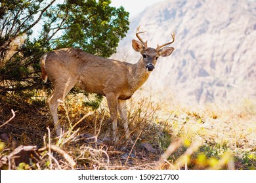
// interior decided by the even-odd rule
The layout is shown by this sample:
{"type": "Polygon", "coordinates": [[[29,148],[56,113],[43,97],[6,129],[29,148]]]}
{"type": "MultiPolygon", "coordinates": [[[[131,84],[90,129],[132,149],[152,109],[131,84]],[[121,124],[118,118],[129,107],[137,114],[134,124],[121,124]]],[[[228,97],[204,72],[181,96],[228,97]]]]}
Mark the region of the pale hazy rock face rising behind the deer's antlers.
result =
{"type": "Polygon", "coordinates": [[[256,1],[157,3],[131,19],[114,58],[131,63],[139,59],[131,46],[138,25],[147,30],[142,39],[154,48],[176,33],[175,51],[160,58],[144,88],[154,86],[202,104],[256,97],[256,1]]]}

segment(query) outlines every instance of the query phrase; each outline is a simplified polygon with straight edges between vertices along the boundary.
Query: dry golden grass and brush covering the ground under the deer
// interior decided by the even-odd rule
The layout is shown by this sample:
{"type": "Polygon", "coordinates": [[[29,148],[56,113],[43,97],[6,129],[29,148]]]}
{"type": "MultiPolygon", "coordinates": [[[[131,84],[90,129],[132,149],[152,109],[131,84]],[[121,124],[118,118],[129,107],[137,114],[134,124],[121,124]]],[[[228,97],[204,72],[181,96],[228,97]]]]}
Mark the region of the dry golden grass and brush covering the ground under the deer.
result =
{"type": "Polygon", "coordinates": [[[256,104],[182,108],[150,98],[128,104],[131,141],[119,125],[112,144],[112,125],[102,102],[83,107],[83,97],[69,95],[59,108],[64,133],[54,137],[45,107],[1,108],[1,169],[255,169],[256,104]],[[12,119],[11,119],[12,118],[12,119]],[[20,152],[15,154],[16,148],[20,152]],[[30,161],[15,156],[27,150],[30,161]],[[147,148],[148,147],[148,148],[147,148]],[[33,155],[33,156],[32,156],[33,155]],[[37,157],[37,158],[35,158],[37,157]]]}

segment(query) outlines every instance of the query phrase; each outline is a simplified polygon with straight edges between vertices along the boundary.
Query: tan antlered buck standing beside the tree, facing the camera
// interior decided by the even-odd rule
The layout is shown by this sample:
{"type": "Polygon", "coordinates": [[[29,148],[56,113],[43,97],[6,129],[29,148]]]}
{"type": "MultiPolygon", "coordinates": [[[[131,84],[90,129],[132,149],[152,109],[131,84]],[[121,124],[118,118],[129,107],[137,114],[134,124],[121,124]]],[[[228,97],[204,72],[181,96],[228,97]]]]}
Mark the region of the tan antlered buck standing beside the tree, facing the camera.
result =
{"type": "Polygon", "coordinates": [[[125,101],[146,82],[158,58],[171,55],[174,48],[164,46],[175,41],[175,33],[173,33],[171,35],[173,41],[158,45],[156,49],[148,48],[147,41],[142,41],[140,33],[144,32],[139,32],[138,27],[136,36],[140,42],[132,41],[133,49],[142,55],[135,64],[101,58],[75,48],[54,50],[42,57],[43,81],[47,82],[49,77],[53,82],[53,93],[47,99],[47,105],[53,118],[56,135],[61,134],[57,116],[58,103],[74,86],[77,86],[86,92],[106,96],[113,125],[114,142],[119,141],[117,110],[123,121],[125,136],[129,138],[125,101]]]}

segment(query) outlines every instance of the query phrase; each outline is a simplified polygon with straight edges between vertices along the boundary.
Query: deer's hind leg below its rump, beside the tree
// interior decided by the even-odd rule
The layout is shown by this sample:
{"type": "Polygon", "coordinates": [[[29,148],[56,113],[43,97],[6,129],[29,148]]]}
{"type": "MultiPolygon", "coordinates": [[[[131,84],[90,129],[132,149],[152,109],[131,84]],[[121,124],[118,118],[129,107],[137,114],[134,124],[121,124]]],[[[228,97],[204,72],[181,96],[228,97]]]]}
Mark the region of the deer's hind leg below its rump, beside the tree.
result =
{"type": "Polygon", "coordinates": [[[75,86],[76,80],[68,78],[68,80],[58,80],[53,82],[53,92],[47,99],[47,106],[50,110],[51,116],[53,118],[54,128],[56,135],[60,136],[62,133],[61,125],[58,122],[58,104],[60,101],[64,101],[64,97],[70,92],[70,90],[75,86]]]}

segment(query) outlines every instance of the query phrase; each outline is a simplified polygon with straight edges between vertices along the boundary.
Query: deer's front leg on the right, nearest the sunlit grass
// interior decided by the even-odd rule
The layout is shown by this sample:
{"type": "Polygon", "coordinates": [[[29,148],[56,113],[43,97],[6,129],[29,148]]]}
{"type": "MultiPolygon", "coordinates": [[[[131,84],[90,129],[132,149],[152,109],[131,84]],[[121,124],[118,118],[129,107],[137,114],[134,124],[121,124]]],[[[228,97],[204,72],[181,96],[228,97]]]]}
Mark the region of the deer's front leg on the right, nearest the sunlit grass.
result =
{"type": "Polygon", "coordinates": [[[127,108],[126,108],[126,101],[125,100],[118,100],[118,110],[120,113],[120,116],[123,120],[123,127],[125,129],[125,137],[126,139],[129,139],[130,136],[130,132],[129,132],[129,128],[128,128],[128,115],[127,115],[127,108]]]}

